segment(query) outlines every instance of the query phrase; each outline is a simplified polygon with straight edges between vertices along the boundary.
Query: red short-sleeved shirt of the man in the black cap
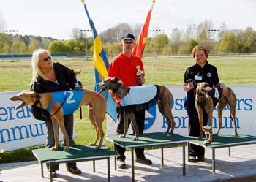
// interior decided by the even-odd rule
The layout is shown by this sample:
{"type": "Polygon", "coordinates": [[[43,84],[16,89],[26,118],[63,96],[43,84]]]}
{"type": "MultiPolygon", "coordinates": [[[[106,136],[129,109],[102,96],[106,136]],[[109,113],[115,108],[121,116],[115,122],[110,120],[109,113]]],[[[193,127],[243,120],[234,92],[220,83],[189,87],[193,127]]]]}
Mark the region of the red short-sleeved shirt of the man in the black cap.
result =
{"type": "Polygon", "coordinates": [[[136,75],[138,71],[137,65],[140,66],[140,70],[144,71],[143,62],[140,58],[133,55],[131,58],[128,58],[120,53],[111,61],[108,77],[119,77],[124,86],[140,86],[138,76],[136,75]]]}

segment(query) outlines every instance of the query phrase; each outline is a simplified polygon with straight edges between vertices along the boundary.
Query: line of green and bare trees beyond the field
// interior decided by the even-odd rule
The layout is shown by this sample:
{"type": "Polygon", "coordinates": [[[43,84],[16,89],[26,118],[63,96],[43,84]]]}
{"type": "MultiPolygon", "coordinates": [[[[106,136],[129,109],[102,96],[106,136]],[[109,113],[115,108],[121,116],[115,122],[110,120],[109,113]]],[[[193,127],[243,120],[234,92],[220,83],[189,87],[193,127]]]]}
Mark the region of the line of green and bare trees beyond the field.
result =
{"type": "MultiPolygon", "coordinates": [[[[121,37],[130,32],[138,37],[141,27],[140,24],[130,26],[128,23],[119,23],[102,31],[99,36],[107,55],[120,53],[121,37]]],[[[186,29],[174,28],[170,35],[157,32],[153,37],[148,37],[144,56],[189,54],[195,45],[204,45],[212,54],[256,53],[256,31],[250,27],[229,30],[225,23],[219,29],[214,29],[213,23],[205,20],[198,25],[189,25],[186,29]]],[[[37,48],[48,49],[51,53],[91,55],[92,33],[90,30],[75,28],[69,40],[0,33],[0,53],[31,53],[37,48]]]]}

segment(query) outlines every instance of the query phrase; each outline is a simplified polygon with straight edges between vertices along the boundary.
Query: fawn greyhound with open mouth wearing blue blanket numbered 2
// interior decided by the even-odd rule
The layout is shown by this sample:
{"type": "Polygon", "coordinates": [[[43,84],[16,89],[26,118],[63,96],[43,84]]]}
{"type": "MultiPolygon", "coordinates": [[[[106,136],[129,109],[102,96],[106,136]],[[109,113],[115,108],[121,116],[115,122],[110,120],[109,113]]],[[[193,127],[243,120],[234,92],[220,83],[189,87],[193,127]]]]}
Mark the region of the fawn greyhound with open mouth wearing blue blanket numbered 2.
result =
{"type": "Polygon", "coordinates": [[[61,128],[61,132],[64,135],[64,140],[66,143],[64,151],[69,151],[69,136],[64,126],[63,116],[73,113],[78,107],[82,105],[88,105],[89,119],[91,124],[94,126],[94,129],[96,130],[96,139],[90,145],[97,145],[97,141],[99,140],[99,145],[97,145],[95,149],[101,148],[104,138],[102,123],[105,119],[107,107],[105,97],[101,94],[85,89],[80,91],[57,91],[43,94],[37,94],[34,91],[28,91],[21,92],[16,96],[12,96],[10,99],[12,101],[21,101],[15,107],[16,110],[26,105],[36,105],[42,109],[47,109],[51,115],[55,140],[55,145],[53,146],[52,150],[57,150],[59,147],[59,126],[61,128]],[[55,96],[56,94],[64,94],[64,99],[62,101],[56,101],[54,98],[59,97],[59,95],[55,96]],[[75,96],[78,94],[80,94],[80,101],[75,100],[75,96]],[[76,105],[74,106],[72,104],[76,105]],[[71,106],[71,108],[68,108],[69,106],[71,106]]]}

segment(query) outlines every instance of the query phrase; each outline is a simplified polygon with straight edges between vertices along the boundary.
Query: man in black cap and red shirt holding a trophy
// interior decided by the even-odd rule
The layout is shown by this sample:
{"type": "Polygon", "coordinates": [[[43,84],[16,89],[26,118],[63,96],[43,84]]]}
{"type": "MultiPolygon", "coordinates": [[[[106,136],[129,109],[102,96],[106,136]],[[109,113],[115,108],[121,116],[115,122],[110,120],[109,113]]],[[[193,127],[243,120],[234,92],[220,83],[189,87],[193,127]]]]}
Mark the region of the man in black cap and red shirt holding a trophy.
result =
{"type": "MultiPolygon", "coordinates": [[[[135,47],[135,37],[133,34],[127,34],[121,39],[122,52],[113,58],[110,68],[108,70],[108,77],[119,77],[124,86],[141,86],[145,83],[145,74],[143,68],[143,62],[140,58],[132,55],[132,49],[135,47]],[[138,71],[142,74],[138,75],[138,71]]],[[[110,93],[112,94],[112,93],[110,93]]],[[[123,115],[118,113],[118,126],[116,132],[122,134],[124,132],[124,118],[123,115]]],[[[135,111],[135,118],[138,125],[139,133],[143,133],[145,110],[135,111]]],[[[130,124],[130,121],[129,121],[130,124]]],[[[119,162],[119,168],[125,169],[125,148],[115,145],[118,153],[117,160],[119,162]]],[[[141,164],[151,165],[152,162],[146,159],[144,155],[144,148],[135,149],[136,162],[141,164]]]]}

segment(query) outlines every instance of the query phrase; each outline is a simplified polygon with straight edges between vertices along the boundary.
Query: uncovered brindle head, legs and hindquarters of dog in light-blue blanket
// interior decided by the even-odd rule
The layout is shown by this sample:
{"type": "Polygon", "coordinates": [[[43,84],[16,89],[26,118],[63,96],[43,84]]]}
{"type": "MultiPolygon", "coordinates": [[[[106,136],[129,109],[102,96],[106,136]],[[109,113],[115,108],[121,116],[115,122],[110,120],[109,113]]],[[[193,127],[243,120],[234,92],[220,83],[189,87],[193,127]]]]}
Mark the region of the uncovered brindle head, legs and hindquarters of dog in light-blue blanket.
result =
{"type": "MultiPolygon", "coordinates": [[[[114,94],[118,96],[119,99],[123,99],[124,96],[127,96],[130,91],[130,87],[123,86],[121,80],[118,77],[108,77],[99,83],[99,86],[102,86],[102,91],[106,88],[113,91],[114,94]]],[[[157,95],[157,104],[160,113],[165,116],[168,122],[167,131],[165,134],[170,136],[173,134],[174,127],[176,125],[175,121],[173,120],[173,114],[171,112],[171,105],[173,104],[173,95],[170,91],[164,86],[157,86],[159,88],[159,94],[157,95]],[[170,130],[171,128],[171,130],[170,130]],[[170,133],[169,133],[170,131],[170,133]]],[[[134,110],[130,112],[124,112],[124,133],[121,137],[125,137],[128,131],[128,119],[132,121],[133,129],[135,130],[135,139],[138,140],[138,126],[135,121],[134,110]]]]}

